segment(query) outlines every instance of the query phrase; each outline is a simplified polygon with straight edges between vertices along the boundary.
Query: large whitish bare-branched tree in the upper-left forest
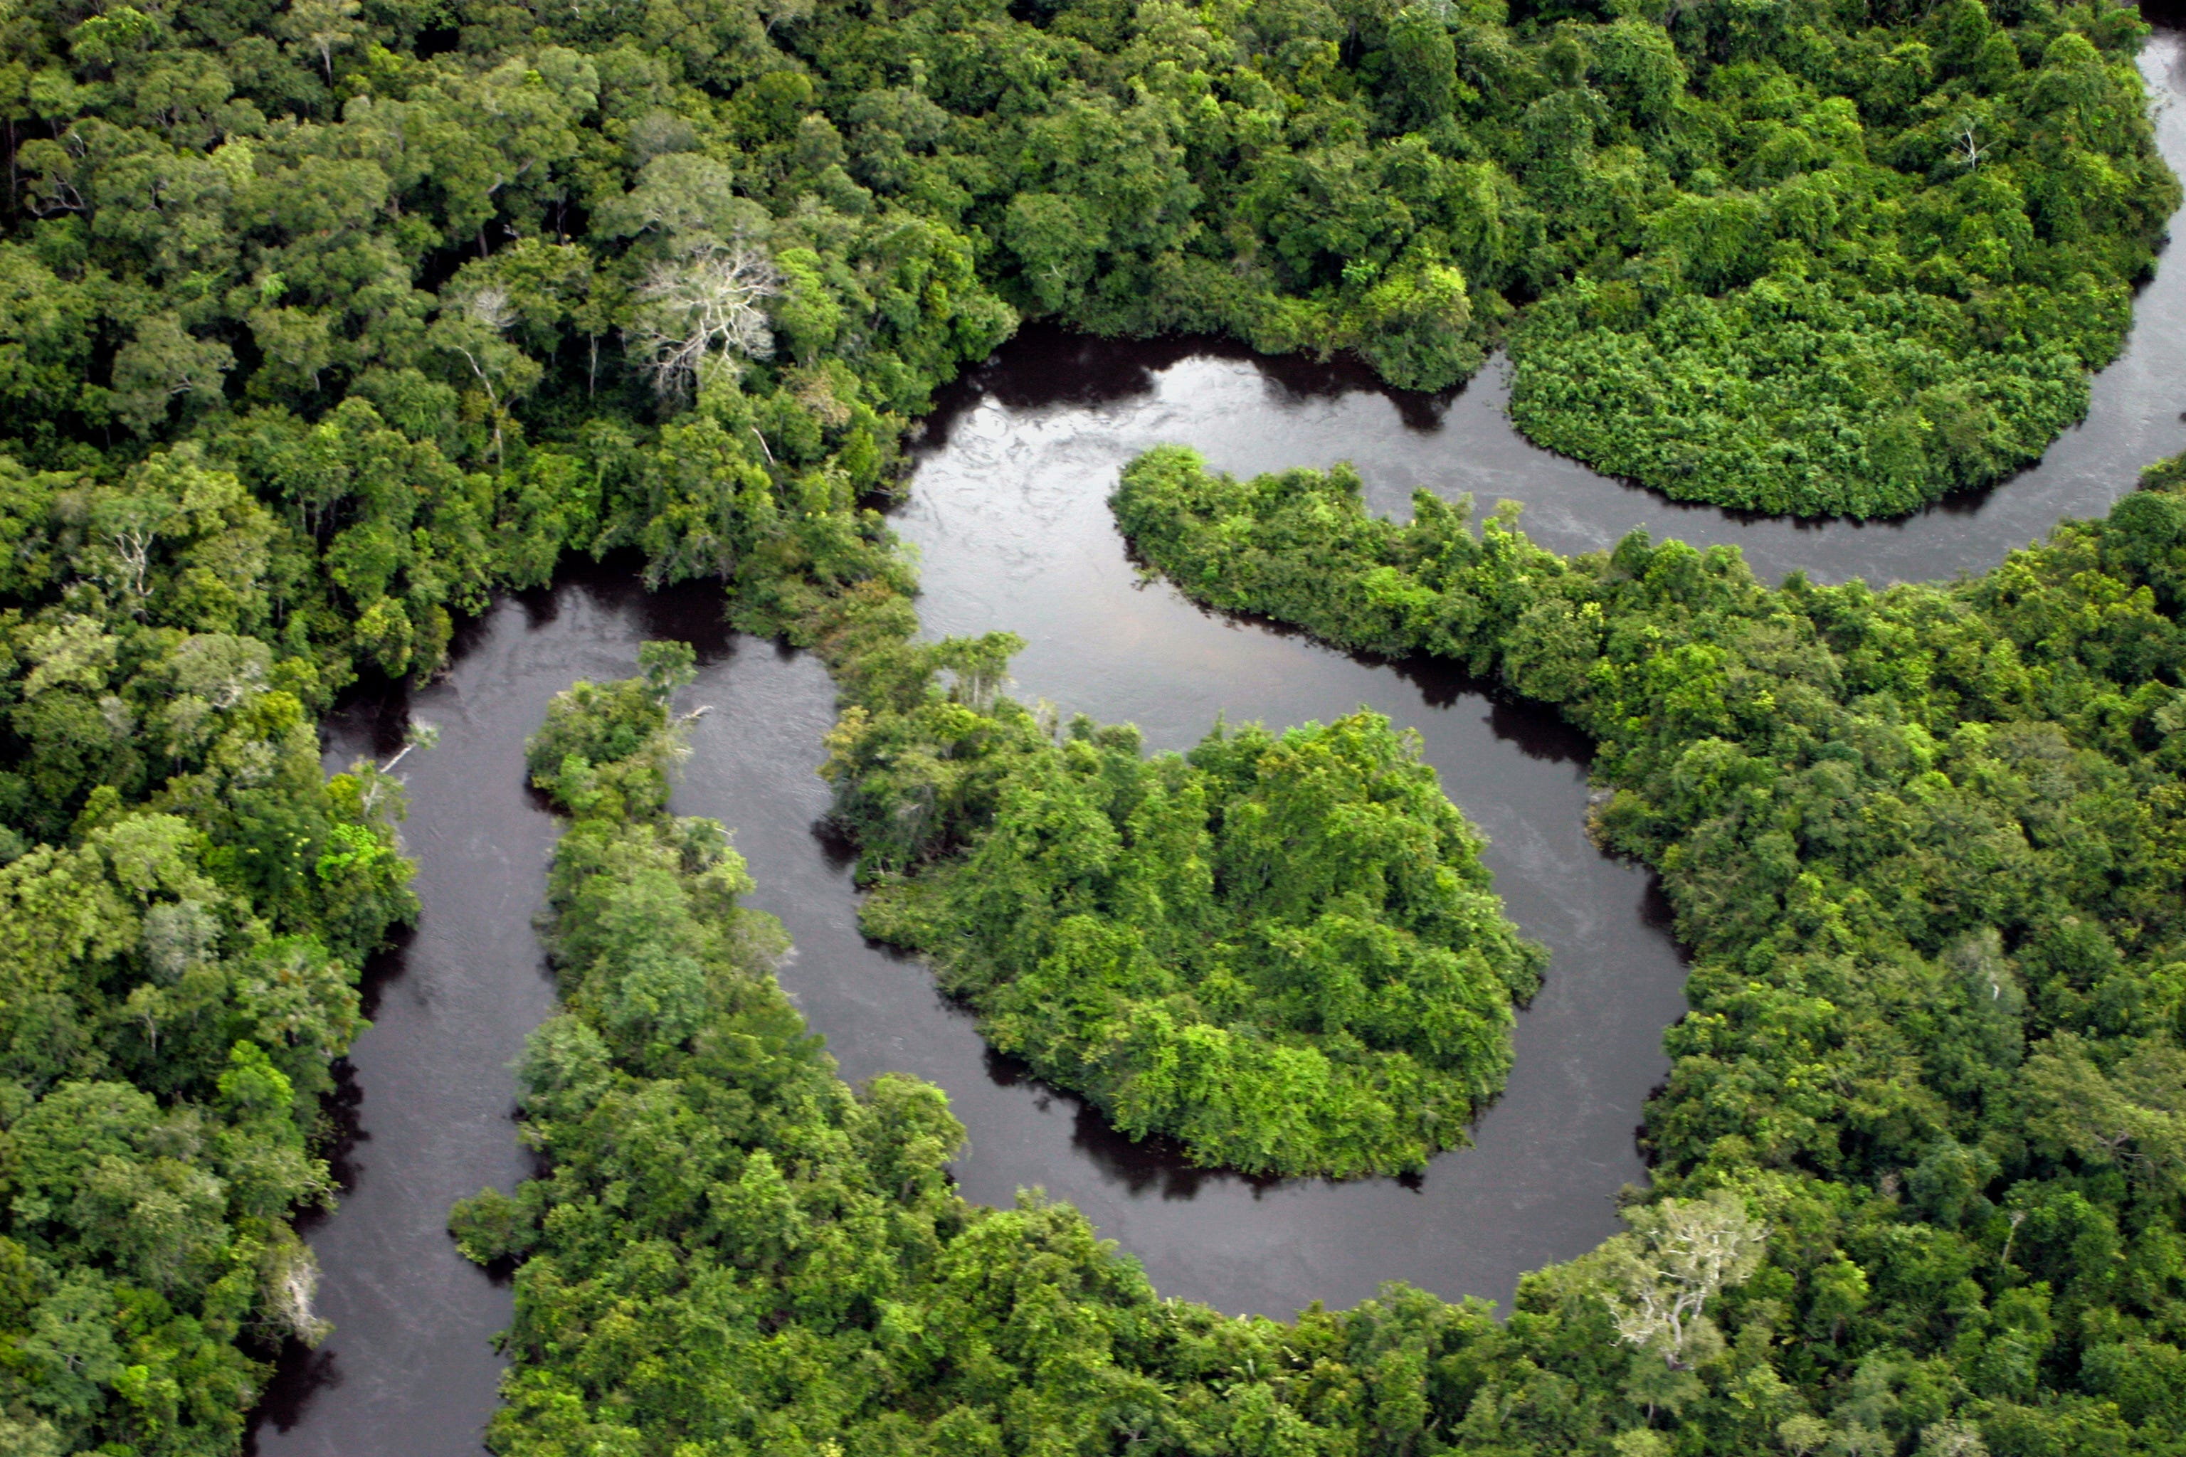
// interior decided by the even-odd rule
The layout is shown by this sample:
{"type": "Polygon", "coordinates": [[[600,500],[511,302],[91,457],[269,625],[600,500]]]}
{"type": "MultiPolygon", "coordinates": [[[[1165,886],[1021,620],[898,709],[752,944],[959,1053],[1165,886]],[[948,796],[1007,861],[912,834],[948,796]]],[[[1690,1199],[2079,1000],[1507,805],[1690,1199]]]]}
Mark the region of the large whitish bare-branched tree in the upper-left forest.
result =
{"type": "Polygon", "coordinates": [[[780,291],[780,269],[741,234],[656,262],[638,286],[632,328],[654,389],[662,398],[689,393],[710,356],[772,354],[774,330],[761,301],[780,291]]]}

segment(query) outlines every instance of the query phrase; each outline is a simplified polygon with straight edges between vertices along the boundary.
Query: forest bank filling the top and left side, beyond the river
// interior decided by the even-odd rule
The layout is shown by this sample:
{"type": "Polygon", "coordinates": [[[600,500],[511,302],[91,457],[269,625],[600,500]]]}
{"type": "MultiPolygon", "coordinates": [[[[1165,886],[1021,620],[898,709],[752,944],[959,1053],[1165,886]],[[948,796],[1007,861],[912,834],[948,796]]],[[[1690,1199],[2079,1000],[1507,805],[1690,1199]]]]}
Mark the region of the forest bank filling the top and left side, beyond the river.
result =
{"type": "MultiPolygon", "coordinates": [[[[413,904],[398,786],[313,754],[361,673],[431,675],[494,592],[636,548],[846,701],[916,703],[940,664],[872,494],[1027,315],[1417,387],[1508,332],[1528,428],[1703,498],[1996,478],[2081,408],[2175,197],[2140,35],[1974,0],[0,17],[4,1435],[232,1450],[256,1354],[317,1330],[289,1221],[328,1193],[359,961],[413,904]],[[1672,384],[1679,450],[1644,424],[1672,384]]],[[[1629,1424],[1600,1400],[1589,1433],[1629,1424]]]]}

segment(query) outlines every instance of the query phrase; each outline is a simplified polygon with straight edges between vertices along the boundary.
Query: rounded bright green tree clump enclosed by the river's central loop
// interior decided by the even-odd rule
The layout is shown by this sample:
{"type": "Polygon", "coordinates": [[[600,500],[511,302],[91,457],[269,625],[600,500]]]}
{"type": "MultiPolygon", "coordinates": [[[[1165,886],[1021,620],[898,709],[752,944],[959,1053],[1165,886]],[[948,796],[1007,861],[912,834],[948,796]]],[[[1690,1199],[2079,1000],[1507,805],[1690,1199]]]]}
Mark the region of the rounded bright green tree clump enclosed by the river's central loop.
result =
{"type": "Polygon", "coordinates": [[[940,799],[933,767],[1001,765],[925,821],[964,854],[885,876],[866,931],[927,952],[988,1042],[1132,1138],[1253,1173],[1397,1173],[1502,1090],[1541,952],[1386,719],[1218,727],[1141,760],[1137,730],[1080,719],[1056,745],[960,690],[853,714],[831,749],[839,821],[872,845],[940,799]]]}

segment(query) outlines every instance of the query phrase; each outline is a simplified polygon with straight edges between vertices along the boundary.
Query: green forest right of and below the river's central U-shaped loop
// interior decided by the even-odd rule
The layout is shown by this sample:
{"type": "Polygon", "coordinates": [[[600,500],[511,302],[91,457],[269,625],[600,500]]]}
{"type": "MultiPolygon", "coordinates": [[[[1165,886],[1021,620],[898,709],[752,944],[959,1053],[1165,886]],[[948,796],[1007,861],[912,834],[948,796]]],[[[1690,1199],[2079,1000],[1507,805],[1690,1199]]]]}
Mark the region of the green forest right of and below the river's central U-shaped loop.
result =
{"type": "MultiPolygon", "coordinates": [[[[1598,830],[1696,950],[1631,1230],[1506,1324],[1401,1287],[1281,1324],[1159,1300],[1036,1195],[962,1204],[938,1094],[831,1075],[721,830],[667,815],[689,651],[654,644],[531,751],[573,815],[571,1011],[522,1064],[551,1173],[453,1221],[520,1260],[496,1450],[2175,1450],[2186,459],[1882,594],[1640,535],[1559,559],[1180,448],[1115,505],[1202,601],[1458,658],[1600,741],[1598,830]]],[[[1010,647],[839,668],[960,706],[1010,647]]]]}

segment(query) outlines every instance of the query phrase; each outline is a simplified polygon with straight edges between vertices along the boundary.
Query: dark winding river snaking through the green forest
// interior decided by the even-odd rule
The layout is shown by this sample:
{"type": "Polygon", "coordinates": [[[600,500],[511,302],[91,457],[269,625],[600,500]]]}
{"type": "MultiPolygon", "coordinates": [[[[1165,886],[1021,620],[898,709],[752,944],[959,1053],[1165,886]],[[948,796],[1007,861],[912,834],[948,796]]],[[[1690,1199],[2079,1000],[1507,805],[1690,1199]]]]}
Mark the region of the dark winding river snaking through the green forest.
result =
{"type": "MultiPolygon", "coordinates": [[[[2142,70],[2186,173],[2186,48],[2158,35],[2142,70]]],[[[2138,301],[2127,354],[2094,384],[2088,424],[2033,472],[1900,524],[1797,526],[1685,509],[1535,450],[1502,415],[1500,371],[1454,398],[1392,395],[1362,374],[1261,360],[1204,343],[1110,345],[1027,332],[973,371],[929,422],[898,531],[922,555],[929,633],[1008,627],[1027,638],[1016,692],[1135,721],[1152,747],[1194,743],[1218,712],[1272,725],[1371,703],[1417,727],[1443,786],[1491,839],[1511,915],[1550,946],[1548,985],[1517,1022],[1517,1068],[1476,1147],[1417,1180],[1255,1182],[1128,1145],[1076,1099],[990,1055],[927,972],[857,933],[850,867],[818,832],[813,775],[833,690],[809,658],[734,638],[719,596],[647,596],[616,566],[498,603],[463,629],[446,679],[356,703],[328,727],[328,765],[389,754],[409,716],[442,730],[404,762],[409,852],[424,902],[411,941],[369,974],[374,1027],[348,1062],[352,1142],[343,1206],[310,1230],[326,1271],[328,1343],[289,1352],[258,1426],[267,1457],[468,1457],[494,1407],[487,1337],[509,1293],[446,1236],[448,1204],[527,1171],[507,1064],[551,1009],[531,917],[555,828],[522,786],[522,738],[575,677],[621,677],[645,638],[700,647],[680,813],[737,830],[796,955],[783,983],[846,1077],[901,1068],[949,1090],[971,1129],[964,1193],[1043,1186],[1141,1258],[1163,1293],[1290,1315],[1408,1280],[1508,1300],[1517,1276],[1615,1228],[1613,1195],[1644,1177],[1633,1127],[1664,1077],[1661,1029],[1683,1011],[1683,966],[1646,872],[1580,826],[1585,745],[1546,714],[1497,703],[1432,664],[1347,658],[1298,636],[1204,614],[1141,585],[1106,494],[1135,452],[1198,446],[1226,470],[1351,459],[1377,509],[1412,487],[1526,502],[1546,546],[1605,546],[1631,526],[1736,542],[1775,579],[1806,568],[1932,579],[1994,566],[2064,516],[2092,516],[2147,461],[2186,448],[2186,269],[2138,301]]],[[[627,568],[627,564],[623,564],[627,568]]]]}

